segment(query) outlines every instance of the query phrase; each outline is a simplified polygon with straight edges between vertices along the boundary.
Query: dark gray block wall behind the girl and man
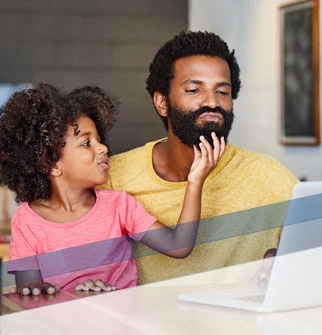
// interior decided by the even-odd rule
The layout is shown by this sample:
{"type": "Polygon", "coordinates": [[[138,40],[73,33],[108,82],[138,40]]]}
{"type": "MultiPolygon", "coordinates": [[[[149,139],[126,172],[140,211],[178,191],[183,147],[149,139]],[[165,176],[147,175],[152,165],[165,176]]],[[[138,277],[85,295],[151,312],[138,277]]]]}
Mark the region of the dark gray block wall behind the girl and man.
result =
{"type": "Polygon", "coordinates": [[[0,0],[0,83],[96,84],[121,100],[112,153],[165,135],[145,90],[158,48],[188,25],[187,0],[0,0]]]}

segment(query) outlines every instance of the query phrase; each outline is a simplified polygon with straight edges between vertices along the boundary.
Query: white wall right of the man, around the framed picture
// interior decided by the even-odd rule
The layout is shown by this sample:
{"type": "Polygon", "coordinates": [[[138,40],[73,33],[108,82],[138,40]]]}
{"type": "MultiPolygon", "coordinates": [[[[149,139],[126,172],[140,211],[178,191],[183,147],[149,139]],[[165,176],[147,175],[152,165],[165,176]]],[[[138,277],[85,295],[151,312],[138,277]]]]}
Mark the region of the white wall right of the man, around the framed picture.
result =
{"type": "Polygon", "coordinates": [[[242,89],[234,103],[230,143],[274,156],[299,178],[322,180],[321,146],[279,143],[278,8],[290,2],[294,1],[190,0],[189,29],[215,32],[235,49],[242,89]]]}

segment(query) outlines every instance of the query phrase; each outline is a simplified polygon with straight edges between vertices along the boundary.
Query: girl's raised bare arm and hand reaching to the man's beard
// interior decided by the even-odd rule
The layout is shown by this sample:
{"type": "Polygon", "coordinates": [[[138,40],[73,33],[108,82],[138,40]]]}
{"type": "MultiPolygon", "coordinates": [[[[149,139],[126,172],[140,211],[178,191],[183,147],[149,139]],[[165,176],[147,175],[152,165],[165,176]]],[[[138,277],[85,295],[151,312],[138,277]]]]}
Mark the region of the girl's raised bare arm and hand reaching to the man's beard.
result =
{"type": "Polygon", "coordinates": [[[201,214],[202,187],[225,151],[224,138],[219,142],[214,133],[211,135],[214,149],[203,136],[200,137],[200,151],[194,147],[194,161],[188,175],[183,206],[175,229],[156,221],[141,240],[148,247],[167,256],[187,257],[195,245],[201,214]]]}

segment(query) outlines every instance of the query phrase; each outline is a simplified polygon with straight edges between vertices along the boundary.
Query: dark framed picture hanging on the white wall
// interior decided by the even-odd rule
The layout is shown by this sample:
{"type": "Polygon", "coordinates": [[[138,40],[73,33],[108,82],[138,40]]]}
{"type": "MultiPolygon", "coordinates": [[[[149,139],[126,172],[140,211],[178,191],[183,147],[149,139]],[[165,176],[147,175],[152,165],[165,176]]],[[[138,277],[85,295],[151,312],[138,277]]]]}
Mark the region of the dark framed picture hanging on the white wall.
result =
{"type": "Polygon", "coordinates": [[[319,0],[279,8],[281,143],[319,145],[319,0]]]}

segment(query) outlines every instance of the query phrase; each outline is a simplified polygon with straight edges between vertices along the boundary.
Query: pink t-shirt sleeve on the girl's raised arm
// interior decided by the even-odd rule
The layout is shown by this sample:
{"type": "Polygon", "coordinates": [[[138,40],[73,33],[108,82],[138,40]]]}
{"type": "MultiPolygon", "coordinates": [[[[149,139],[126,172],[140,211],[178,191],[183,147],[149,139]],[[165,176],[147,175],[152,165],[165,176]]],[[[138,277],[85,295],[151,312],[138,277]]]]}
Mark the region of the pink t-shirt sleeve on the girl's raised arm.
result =
{"type": "Polygon", "coordinates": [[[140,202],[128,193],[124,192],[124,194],[125,201],[123,203],[126,208],[123,209],[123,213],[126,230],[132,239],[139,241],[157,220],[147,212],[140,202]]]}

